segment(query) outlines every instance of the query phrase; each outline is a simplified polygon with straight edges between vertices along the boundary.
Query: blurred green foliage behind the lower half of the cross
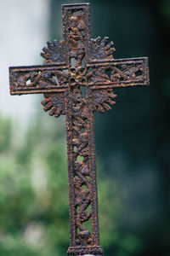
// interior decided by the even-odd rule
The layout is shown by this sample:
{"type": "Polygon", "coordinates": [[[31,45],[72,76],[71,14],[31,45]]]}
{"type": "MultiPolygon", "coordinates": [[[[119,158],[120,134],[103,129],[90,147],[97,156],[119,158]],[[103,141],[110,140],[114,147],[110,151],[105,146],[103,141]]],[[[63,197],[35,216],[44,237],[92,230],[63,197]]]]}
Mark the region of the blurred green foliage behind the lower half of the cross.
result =
{"type": "MultiPolygon", "coordinates": [[[[66,142],[63,119],[37,115],[15,145],[17,130],[0,119],[0,255],[64,255],[69,245],[66,142]]],[[[14,127],[13,127],[14,128],[14,127]]],[[[101,240],[107,254],[128,256],[141,242],[119,234],[122,195],[99,164],[101,240]],[[129,242],[130,241],[130,242],[129,242]]]]}

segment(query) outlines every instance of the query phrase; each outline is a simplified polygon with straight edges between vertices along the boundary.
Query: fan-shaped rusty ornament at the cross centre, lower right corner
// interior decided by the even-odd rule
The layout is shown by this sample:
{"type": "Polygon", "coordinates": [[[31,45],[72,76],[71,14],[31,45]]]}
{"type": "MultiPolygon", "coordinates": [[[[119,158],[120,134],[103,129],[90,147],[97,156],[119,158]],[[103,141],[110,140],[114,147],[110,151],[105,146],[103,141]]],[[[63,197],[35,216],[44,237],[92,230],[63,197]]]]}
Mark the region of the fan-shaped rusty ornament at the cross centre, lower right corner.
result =
{"type": "Polygon", "coordinates": [[[114,101],[116,94],[113,93],[113,89],[99,89],[93,91],[93,104],[94,111],[99,111],[104,113],[105,110],[110,111],[111,106],[114,106],[116,102],[114,101]]]}

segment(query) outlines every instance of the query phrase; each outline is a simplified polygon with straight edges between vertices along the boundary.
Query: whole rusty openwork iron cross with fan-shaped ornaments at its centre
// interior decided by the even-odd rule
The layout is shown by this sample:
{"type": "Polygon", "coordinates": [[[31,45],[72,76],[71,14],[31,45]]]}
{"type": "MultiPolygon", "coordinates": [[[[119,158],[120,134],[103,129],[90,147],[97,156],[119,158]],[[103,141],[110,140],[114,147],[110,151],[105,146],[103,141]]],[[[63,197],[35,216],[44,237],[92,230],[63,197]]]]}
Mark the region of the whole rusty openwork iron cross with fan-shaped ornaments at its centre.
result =
{"type": "Polygon", "coordinates": [[[43,93],[43,109],[66,117],[70,202],[67,255],[104,255],[99,218],[94,112],[115,105],[114,88],[149,84],[148,58],[115,60],[109,38],[90,38],[89,3],[62,5],[63,41],[42,49],[44,64],[9,67],[11,95],[43,93]],[[88,224],[88,225],[87,225],[88,224]]]}

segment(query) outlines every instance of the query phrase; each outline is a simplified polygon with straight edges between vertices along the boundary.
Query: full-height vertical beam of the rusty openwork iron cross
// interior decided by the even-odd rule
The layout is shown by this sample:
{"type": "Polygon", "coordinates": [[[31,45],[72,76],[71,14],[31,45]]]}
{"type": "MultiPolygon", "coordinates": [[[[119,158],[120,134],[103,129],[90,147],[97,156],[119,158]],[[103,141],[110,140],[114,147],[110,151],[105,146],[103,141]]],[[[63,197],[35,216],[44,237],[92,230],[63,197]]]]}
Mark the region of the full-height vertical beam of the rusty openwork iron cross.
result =
{"type": "Polygon", "coordinates": [[[70,67],[67,90],[66,125],[68,148],[71,244],[68,253],[102,254],[94,148],[94,113],[90,91],[84,96],[90,41],[89,5],[63,6],[63,32],[70,67]],[[89,223],[86,226],[86,223],[89,223]]]}

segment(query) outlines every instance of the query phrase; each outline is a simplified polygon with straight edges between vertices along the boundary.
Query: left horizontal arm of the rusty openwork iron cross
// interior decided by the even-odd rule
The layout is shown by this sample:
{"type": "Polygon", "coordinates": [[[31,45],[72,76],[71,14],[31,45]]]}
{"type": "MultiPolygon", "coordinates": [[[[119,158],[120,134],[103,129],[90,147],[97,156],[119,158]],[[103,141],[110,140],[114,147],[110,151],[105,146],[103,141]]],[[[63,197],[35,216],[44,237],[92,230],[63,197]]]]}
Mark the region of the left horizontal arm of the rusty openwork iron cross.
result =
{"type": "Polygon", "coordinates": [[[11,95],[60,92],[65,90],[68,67],[47,64],[28,67],[9,67],[11,95]]]}

